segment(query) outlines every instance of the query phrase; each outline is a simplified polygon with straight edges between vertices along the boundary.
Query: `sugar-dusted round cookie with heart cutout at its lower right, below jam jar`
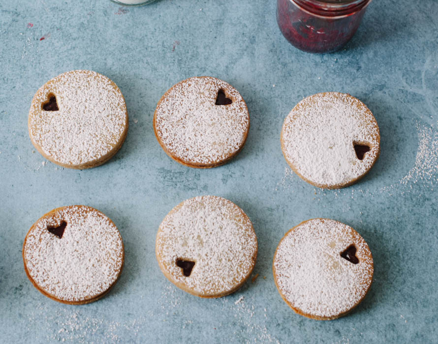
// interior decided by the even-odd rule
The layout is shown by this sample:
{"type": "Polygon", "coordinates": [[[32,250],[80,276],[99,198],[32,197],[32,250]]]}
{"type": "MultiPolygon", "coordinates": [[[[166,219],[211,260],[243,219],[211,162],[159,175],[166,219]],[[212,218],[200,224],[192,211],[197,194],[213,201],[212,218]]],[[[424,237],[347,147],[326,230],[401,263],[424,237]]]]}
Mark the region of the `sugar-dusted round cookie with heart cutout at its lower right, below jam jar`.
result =
{"type": "Polygon", "coordinates": [[[339,92],[317,93],[299,102],[284,120],[281,143],[292,170],[325,189],[356,182],[380,153],[379,128],[371,111],[339,92]]]}

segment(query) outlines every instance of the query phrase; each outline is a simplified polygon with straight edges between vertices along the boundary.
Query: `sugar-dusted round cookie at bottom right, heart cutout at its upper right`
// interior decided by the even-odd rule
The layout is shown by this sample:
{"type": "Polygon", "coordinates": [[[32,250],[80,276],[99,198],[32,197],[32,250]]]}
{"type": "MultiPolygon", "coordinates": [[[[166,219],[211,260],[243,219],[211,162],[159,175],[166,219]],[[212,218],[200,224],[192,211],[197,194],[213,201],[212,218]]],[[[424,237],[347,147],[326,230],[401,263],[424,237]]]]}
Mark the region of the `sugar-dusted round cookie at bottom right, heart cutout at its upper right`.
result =
{"type": "Polygon", "coordinates": [[[312,219],[290,229],[273,263],[283,300],[299,315],[336,319],[356,307],[373,281],[370,248],[351,227],[312,219]]]}

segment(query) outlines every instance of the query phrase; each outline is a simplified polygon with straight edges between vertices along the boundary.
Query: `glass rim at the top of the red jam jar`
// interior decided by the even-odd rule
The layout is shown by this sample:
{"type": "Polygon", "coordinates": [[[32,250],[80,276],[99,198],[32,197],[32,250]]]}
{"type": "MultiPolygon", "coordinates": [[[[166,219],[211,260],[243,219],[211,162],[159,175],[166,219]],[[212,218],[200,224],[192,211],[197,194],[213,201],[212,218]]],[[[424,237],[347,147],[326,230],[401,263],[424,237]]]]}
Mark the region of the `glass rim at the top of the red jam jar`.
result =
{"type": "Polygon", "coordinates": [[[303,11],[318,17],[338,19],[367,7],[372,0],[289,0],[303,11]]]}

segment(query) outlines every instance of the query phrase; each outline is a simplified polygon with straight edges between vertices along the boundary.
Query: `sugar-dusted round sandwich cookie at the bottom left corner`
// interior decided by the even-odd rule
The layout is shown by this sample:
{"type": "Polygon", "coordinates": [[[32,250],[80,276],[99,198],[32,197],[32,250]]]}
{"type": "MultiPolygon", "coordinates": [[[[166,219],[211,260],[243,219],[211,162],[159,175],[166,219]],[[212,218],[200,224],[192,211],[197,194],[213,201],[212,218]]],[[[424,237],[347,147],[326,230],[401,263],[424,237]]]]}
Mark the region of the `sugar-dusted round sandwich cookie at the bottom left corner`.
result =
{"type": "Polygon", "coordinates": [[[23,244],[26,274],[53,300],[96,301],[122,272],[124,247],[116,225],[85,205],[53,209],[36,221],[23,244]]]}

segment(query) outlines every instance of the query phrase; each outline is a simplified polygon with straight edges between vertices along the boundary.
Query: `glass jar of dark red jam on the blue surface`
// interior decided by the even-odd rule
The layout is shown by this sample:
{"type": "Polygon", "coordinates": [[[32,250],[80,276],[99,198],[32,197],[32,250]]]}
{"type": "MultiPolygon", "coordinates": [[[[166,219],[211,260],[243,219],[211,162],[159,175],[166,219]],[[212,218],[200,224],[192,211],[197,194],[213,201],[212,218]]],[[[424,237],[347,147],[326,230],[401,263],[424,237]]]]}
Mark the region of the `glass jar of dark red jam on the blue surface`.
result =
{"type": "Polygon", "coordinates": [[[277,22],[298,49],[328,53],[353,37],[372,0],[277,0],[277,22]]]}

